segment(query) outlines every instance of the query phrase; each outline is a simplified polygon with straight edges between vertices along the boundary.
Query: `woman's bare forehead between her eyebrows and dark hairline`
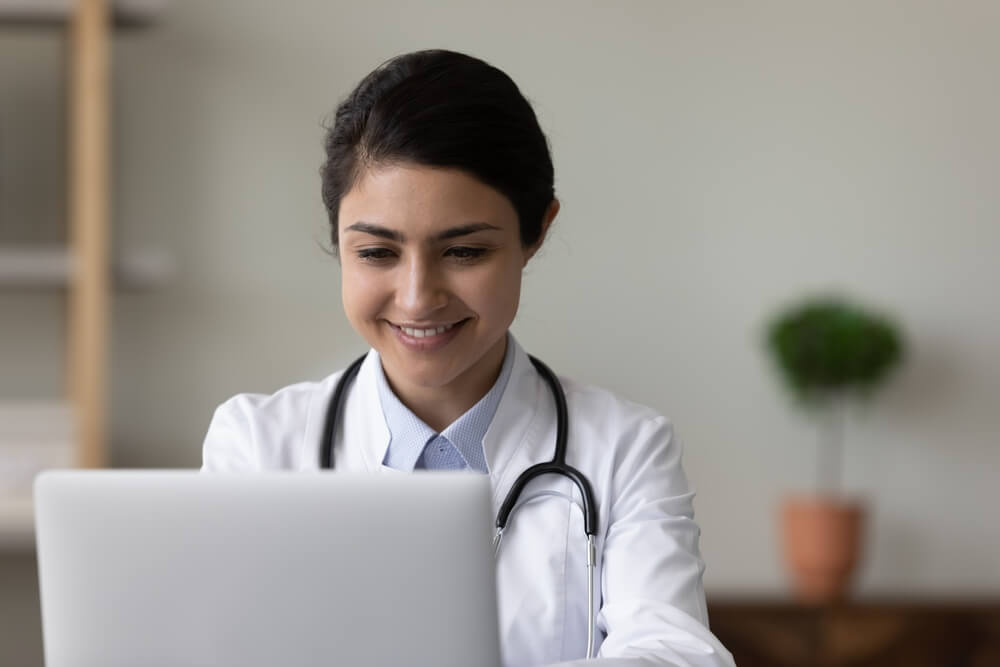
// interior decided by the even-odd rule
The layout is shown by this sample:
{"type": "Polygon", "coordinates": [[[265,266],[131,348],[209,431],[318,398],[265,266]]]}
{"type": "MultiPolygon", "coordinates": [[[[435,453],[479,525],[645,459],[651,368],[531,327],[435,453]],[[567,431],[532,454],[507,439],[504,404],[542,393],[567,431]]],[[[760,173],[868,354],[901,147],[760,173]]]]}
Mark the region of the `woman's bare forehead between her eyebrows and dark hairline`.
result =
{"type": "Polygon", "coordinates": [[[365,170],[341,199],[341,229],[363,221],[419,232],[487,222],[517,230],[517,212],[498,190],[460,169],[389,165],[365,170]]]}

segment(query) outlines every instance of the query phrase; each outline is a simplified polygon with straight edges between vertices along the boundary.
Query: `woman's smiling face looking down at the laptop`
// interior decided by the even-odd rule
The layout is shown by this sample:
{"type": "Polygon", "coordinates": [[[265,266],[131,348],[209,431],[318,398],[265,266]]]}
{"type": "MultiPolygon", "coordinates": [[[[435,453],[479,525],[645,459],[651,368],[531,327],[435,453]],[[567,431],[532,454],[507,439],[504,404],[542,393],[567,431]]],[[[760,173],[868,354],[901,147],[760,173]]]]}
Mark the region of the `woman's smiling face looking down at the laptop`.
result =
{"type": "Polygon", "coordinates": [[[457,169],[375,168],[341,199],[338,238],[344,310],[393,388],[485,392],[535,250],[510,201],[457,169]]]}

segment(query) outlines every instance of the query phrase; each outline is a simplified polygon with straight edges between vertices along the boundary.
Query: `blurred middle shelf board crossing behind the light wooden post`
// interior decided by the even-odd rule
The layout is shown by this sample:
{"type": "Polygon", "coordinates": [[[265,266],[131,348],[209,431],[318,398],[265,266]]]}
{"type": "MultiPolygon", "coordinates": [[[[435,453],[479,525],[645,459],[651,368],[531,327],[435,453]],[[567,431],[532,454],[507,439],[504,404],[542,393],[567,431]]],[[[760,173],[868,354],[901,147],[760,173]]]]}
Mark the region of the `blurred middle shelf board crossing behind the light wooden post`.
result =
{"type": "MultiPolygon", "coordinates": [[[[174,273],[170,256],[155,250],[126,252],[112,267],[115,283],[131,289],[162,285],[174,273]]],[[[63,288],[72,275],[66,248],[0,246],[0,288],[63,288]]]]}

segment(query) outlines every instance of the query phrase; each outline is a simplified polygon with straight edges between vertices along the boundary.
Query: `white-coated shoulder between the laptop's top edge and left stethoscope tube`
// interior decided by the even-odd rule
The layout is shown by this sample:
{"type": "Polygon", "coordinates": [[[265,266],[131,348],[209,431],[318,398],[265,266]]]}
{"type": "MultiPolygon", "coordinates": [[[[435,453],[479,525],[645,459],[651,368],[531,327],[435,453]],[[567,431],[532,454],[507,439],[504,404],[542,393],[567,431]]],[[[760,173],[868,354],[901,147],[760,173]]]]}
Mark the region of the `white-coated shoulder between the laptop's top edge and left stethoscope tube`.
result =
{"type": "Polygon", "coordinates": [[[342,373],[297,382],[271,394],[241,393],[224,401],[215,409],[205,435],[202,470],[302,467],[308,437],[322,421],[322,407],[342,373]]]}

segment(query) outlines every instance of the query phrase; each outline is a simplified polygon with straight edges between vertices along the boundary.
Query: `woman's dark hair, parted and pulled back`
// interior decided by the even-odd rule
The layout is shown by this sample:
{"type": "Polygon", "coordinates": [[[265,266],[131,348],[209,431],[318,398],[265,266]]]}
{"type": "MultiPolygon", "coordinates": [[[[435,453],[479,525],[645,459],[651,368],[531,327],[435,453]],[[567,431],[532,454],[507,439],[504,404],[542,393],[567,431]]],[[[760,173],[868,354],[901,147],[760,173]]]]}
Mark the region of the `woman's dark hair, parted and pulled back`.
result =
{"type": "Polygon", "coordinates": [[[555,197],[531,105],[504,72],[454,51],[392,58],[337,107],[320,169],[334,248],[341,198],[366,168],[393,163],[462,169],[496,189],[517,211],[525,247],[540,239],[555,197]]]}

